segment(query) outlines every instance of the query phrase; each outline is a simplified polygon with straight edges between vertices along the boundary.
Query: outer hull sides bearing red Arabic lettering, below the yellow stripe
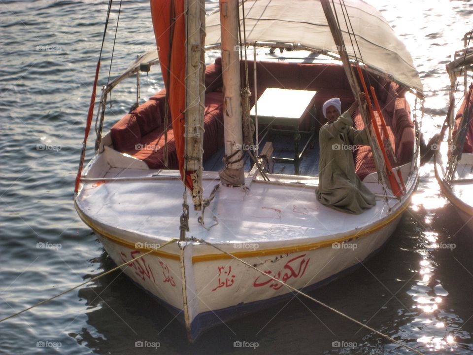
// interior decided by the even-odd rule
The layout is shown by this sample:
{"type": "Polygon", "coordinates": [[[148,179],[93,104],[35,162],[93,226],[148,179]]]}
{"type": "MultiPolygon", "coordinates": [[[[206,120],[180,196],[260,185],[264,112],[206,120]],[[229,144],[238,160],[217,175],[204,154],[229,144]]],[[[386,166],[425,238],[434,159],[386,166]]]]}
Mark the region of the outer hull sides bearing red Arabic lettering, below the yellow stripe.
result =
{"type": "MultiPolygon", "coordinates": [[[[401,214],[369,235],[351,242],[242,259],[297,289],[307,291],[359,266],[388,240],[400,218],[401,214]]],[[[142,252],[100,234],[99,239],[117,264],[142,252]]],[[[184,255],[189,258],[184,263],[189,265],[185,272],[190,315],[188,328],[192,340],[213,326],[293,297],[290,289],[236,259],[193,262],[192,249],[195,248],[199,246],[190,244],[184,248],[184,255]]],[[[179,260],[150,254],[129,264],[124,272],[185,323],[179,260]]]]}

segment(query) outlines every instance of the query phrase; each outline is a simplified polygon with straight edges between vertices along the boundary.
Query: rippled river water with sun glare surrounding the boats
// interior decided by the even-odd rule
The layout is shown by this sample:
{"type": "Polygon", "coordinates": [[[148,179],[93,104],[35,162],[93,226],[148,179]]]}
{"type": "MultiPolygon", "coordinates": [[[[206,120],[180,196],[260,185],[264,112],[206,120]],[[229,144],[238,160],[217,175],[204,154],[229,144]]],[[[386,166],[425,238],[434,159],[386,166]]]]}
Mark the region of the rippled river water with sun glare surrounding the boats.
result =
{"type": "MultiPolygon", "coordinates": [[[[422,131],[429,138],[446,114],[444,66],[473,27],[473,1],[372,3],[421,73],[422,131]]],[[[0,1],[1,318],[114,266],[72,202],[106,8],[103,0],[0,1]]],[[[100,85],[106,83],[117,17],[118,2],[100,85]]],[[[153,42],[149,2],[123,1],[112,77],[153,42]]],[[[141,101],[162,86],[152,72],[143,76],[141,101]]],[[[134,97],[134,79],[113,91],[104,131],[134,97]]],[[[421,175],[411,206],[383,249],[311,295],[423,353],[472,354],[473,239],[440,195],[432,162],[421,175]]],[[[190,345],[183,326],[119,273],[0,323],[0,354],[283,352],[412,354],[298,297],[219,326],[190,345]],[[136,347],[140,341],[147,347],[136,347]],[[249,347],[234,347],[236,341],[249,347]]]]}

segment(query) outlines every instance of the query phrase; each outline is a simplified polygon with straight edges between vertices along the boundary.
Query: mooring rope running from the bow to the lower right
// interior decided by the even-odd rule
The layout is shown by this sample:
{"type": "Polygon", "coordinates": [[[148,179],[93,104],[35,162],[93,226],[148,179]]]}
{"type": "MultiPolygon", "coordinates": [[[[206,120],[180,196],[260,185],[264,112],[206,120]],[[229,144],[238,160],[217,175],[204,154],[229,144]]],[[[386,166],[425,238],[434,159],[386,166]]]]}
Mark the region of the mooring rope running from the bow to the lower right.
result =
{"type": "Polygon", "coordinates": [[[205,241],[205,240],[203,240],[203,239],[197,239],[197,238],[194,238],[194,237],[189,238],[189,240],[194,241],[194,242],[198,242],[198,243],[203,243],[203,244],[206,244],[206,245],[208,245],[208,246],[210,246],[210,247],[213,247],[213,248],[219,250],[220,252],[223,252],[224,254],[227,254],[227,255],[229,255],[230,257],[232,257],[232,258],[238,260],[239,262],[243,263],[244,265],[248,266],[249,268],[251,268],[251,269],[253,269],[253,270],[256,270],[256,271],[259,272],[260,274],[262,274],[262,275],[264,275],[264,276],[267,276],[267,277],[269,277],[270,279],[272,279],[272,280],[274,280],[274,281],[277,281],[278,283],[280,283],[280,284],[286,286],[286,287],[289,288],[290,290],[292,290],[292,291],[294,291],[294,292],[296,292],[296,293],[298,293],[298,294],[300,294],[300,295],[302,295],[302,296],[308,298],[309,300],[311,300],[311,301],[313,301],[313,302],[315,302],[315,303],[318,303],[319,305],[321,305],[321,306],[323,306],[323,307],[325,307],[325,308],[331,310],[332,312],[337,313],[338,315],[340,315],[340,316],[342,316],[342,317],[344,317],[344,318],[346,318],[346,319],[348,319],[348,320],[351,320],[351,321],[355,322],[356,324],[362,326],[363,328],[366,328],[366,329],[368,329],[368,330],[370,330],[370,331],[372,331],[372,332],[374,332],[374,333],[376,333],[376,334],[382,336],[383,338],[385,338],[385,339],[387,339],[387,340],[389,340],[389,341],[392,341],[392,342],[394,342],[394,343],[396,343],[396,344],[399,344],[399,345],[401,345],[402,347],[404,347],[404,348],[406,348],[406,349],[408,349],[408,350],[410,350],[410,351],[413,351],[414,353],[416,353],[416,354],[418,354],[418,355],[425,355],[425,354],[419,352],[418,350],[415,350],[415,349],[409,347],[408,345],[405,345],[405,344],[401,343],[400,341],[391,338],[389,335],[386,335],[386,334],[384,334],[384,333],[381,333],[380,331],[378,331],[378,330],[376,330],[376,329],[370,327],[369,325],[363,324],[363,323],[360,322],[359,320],[356,320],[356,319],[354,319],[354,318],[351,318],[350,316],[348,316],[348,315],[346,315],[346,314],[344,314],[344,313],[338,311],[337,309],[335,309],[335,308],[333,308],[333,307],[330,307],[329,305],[323,303],[322,301],[319,301],[319,300],[317,300],[317,299],[315,299],[315,298],[309,296],[308,294],[306,294],[306,293],[304,293],[304,292],[298,290],[297,288],[295,288],[295,287],[293,287],[293,286],[291,286],[291,285],[289,285],[289,284],[286,284],[284,281],[281,281],[281,280],[276,279],[275,277],[273,277],[273,276],[271,276],[271,275],[265,273],[263,270],[258,269],[257,267],[255,267],[255,266],[253,266],[253,265],[247,263],[246,261],[244,261],[244,260],[238,258],[237,256],[235,256],[235,255],[233,255],[233,254],[231,254],[231,253],[229,253],[229,252],[227,252],[227,251],[225,251],[225,250],[223,250],[223,249],[220,249],[219,247],[217,247],[216,245],[214,245],[214,244],[212,244],[212,243],[209,243],[209,242],[207,242],[207,241],[205,241]]]}

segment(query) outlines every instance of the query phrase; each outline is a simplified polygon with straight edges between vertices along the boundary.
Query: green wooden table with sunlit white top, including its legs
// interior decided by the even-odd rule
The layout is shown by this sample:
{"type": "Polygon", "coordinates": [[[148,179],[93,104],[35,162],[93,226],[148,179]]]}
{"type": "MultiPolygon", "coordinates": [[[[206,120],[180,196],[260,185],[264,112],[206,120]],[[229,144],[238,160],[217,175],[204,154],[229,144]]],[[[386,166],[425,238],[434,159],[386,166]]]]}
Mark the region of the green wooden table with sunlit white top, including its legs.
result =
{"type": "MultiPolygon", "coordinates": [[[[310,144],[313,146],[315,137],[315,115],[310,119],[310,130],[300,131],[299,126],[309,111],[313,109],[316,91],[312,90],[291,90],[267,88],[257,101],[258,124],[268,125],[270,137],[273,132],[294,133],[294,159],[273,158],[275,162],[284,164],[294,164],[296,175],[299,175],[299,164],[303,158],[304,151],[310,144]],[[273,129],[272,126],[287,126],[291,129],[273,129]],[[299,142],[301,134],[308,134],[309,139],[301,152],[299,152],[299,142]]],[[[256,105],[255,105],[256,106],[256,105]]],[[[250,110],[253,119],[256,117],[256,107],[250,110]]]]}

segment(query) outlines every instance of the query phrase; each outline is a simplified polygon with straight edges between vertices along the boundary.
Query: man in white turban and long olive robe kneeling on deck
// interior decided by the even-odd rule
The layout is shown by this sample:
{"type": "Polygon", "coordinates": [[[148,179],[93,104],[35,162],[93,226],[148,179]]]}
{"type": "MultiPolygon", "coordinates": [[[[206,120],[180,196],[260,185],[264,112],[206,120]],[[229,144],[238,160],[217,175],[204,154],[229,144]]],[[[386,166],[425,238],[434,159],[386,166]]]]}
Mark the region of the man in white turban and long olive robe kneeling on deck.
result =
{"type": "MultiPolygon", "coordinates": [[[[362,100],[364,97],[362,97],[362,100]]],[[[353,149],[357,144],[368,145],[364,130],[352,125],[352,113],[358,107],[354,102],[342,115],[339,98],[325,102],[323,113],[328,122],[320,129],[318,201],[335,210],[360,214],[376,204],[374,194],[355,174],[353,149]]]]}

